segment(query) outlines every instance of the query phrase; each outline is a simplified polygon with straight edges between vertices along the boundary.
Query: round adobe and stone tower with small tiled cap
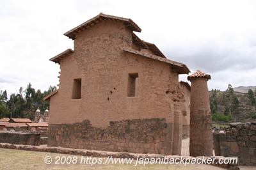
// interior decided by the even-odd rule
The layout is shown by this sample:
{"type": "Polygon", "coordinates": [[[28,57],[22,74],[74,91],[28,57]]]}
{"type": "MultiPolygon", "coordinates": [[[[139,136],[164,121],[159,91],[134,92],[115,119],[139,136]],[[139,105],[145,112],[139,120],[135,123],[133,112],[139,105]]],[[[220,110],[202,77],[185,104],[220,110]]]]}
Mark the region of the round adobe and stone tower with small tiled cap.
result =
{"type": "Polygon", "coordinates": [[[197,70],[191,81],[189,155],[212,156],[212,116],[207,81],[211,75],[197,70]]]}

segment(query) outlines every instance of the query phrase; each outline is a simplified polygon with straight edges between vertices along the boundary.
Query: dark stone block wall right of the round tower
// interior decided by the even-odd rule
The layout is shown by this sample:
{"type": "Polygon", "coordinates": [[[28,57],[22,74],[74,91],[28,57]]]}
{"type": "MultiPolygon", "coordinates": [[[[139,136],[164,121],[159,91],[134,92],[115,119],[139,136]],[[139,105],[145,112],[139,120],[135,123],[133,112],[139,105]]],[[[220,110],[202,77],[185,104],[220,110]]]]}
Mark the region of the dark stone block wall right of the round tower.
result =
{"type": "Polygon", "coordinates": [[[256,122],[230,123],[213,132],[216,156],[238,157],[239,165],[256,166],[256,122]]]}

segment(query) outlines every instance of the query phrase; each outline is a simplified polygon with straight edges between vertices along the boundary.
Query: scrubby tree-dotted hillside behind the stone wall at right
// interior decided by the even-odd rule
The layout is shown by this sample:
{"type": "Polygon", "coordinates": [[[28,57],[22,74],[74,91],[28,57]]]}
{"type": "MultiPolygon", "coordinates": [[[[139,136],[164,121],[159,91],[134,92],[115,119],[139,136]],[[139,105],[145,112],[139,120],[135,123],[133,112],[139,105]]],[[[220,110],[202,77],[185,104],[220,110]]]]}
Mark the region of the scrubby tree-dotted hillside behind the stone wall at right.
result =
{"type": "MultiPolygon", "coordinates": [[[[238,89],[245,91],[246,88],[248,87],[238,89]]],[[[212,120],[220,118],[223,121],[255,121],[256,104],[249,98],[248,90],[246,93],[240,93],[230,86],[226,91],[209,91],[209,97],[212,120]]],[[[255,98],[255,93],[253,98],[255,98]]]]}

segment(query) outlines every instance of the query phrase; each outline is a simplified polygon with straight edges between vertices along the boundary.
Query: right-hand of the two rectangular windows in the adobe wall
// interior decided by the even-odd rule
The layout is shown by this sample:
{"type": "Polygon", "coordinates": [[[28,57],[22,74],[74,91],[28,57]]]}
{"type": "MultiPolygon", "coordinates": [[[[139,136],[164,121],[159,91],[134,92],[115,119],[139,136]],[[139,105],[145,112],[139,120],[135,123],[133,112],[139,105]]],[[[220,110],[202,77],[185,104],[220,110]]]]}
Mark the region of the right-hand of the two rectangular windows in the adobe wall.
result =
{"type": "Polygon", "coordinates": [[[138,73],[129,73],[127,84],[127,97],[138,97],[139,95],[139,75],[138,73]]]}

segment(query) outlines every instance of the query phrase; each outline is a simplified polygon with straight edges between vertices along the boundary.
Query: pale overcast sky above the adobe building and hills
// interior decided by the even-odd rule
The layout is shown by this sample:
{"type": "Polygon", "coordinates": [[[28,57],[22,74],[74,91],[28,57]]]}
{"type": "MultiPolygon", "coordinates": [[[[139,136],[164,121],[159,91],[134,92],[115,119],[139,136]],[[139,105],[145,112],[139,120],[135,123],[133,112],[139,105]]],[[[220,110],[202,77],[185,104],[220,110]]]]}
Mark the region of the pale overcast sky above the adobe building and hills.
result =
{"type": "Polygon", "coordinates": [[[210,74],[209,90],[256,86],[255,9],[253,0],[0,0],[0,90],[59,84],[60,65],[49,59],[74,49],[63,34],[100,12],[132,19],[166,58],[210,74]]]}

